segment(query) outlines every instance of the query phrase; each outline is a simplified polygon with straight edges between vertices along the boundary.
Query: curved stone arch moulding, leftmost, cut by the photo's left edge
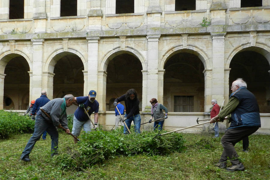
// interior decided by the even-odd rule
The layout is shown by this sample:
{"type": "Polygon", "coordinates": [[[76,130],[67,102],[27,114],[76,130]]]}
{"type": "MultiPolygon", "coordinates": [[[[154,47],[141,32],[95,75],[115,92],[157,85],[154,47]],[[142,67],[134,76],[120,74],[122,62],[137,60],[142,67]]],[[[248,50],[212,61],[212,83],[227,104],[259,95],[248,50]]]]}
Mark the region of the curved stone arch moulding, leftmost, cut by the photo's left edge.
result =
{"type": "Polygon", "coordinates": [[[20,56],[20,55],[26,59],[28,65],[29,65],[29,69],[30,69],[30,71],[32,71],[31,58],[27,54],[25,54],[24,52],[22,52],[18,49],[14,49],[14,52],[7,50],[7,51],[4,51],[0,55],[0,73],[4,73],[5,67],[6,67],[7,63],[10,61],[10,59],[15,58],[15,57],[20,56]]]}

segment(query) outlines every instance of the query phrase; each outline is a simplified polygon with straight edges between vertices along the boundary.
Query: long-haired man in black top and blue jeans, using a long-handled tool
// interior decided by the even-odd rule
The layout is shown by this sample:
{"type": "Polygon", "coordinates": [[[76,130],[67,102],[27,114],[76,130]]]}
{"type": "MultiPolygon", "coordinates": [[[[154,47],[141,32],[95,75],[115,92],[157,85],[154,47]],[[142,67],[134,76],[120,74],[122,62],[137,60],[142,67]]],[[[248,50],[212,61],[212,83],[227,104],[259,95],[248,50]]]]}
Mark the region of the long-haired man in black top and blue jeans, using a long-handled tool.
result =
{"type": "MultiPolygon", "coordinates": [[[[113,105],[116,106],[118,102],[125,101],[126,115],[121,119],[122,122],[126,122],[128,129],[130,129],[131,122],[134,122],[135,132],[141,133],[141,116],[140,116],[140,101],[135,89],[129,89],[126,94],[116,98],[113,105]]],[[[124,134],[128,134],[128,129],[124,126],[124,134]]]]}

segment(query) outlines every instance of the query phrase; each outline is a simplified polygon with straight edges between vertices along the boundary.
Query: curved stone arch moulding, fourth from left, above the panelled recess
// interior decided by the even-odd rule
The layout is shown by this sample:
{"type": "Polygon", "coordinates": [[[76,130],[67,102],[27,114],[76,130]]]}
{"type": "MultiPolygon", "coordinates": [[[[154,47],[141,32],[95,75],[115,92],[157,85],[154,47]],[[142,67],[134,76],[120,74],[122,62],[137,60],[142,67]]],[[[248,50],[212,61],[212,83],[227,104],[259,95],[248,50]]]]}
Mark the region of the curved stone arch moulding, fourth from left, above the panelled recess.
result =
{"type": "Polygon", "coordinates": [[[161,61],[158,64],[158,69],[164,69],[166,61],[170,59],[170,57],[172,57],[173,55],[182,51],[197,55],[198,58],[202,61],[205,69],[212,68],[212,62],[207,52],[195,45],[188,44],[187,48],[184,48],[182,44],[179,44],[171,47],[164,53],[164,55],[162,55],[161,61]]]}

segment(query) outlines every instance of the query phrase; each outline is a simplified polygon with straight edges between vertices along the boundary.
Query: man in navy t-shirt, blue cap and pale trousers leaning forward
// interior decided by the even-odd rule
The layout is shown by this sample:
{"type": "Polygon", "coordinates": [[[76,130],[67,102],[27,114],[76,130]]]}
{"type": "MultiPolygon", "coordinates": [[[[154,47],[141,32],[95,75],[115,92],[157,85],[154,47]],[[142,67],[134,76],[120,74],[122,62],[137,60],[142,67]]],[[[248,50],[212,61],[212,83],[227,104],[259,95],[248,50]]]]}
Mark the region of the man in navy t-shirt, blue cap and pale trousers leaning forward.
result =
{"type": "MultiPolygon", "coordinates": [[[[80,132],[83,127],[83,131],[89,132],[91,131],[91,120],[88,118],[87,114],[85,113],[84,109],[88,112],[89,116],[95,112],[95,128],[98,125],[98,109],[99,109],[99,103],[96,99],[97,92],[94,90],[91,90],[89,92],[88,96],[80,96],[76,97],[73,104],[76,104],[79,106],[73,117],[73,128],[72,128],[72,134],[75,137],[78,137],[80,135],[80,132]]],[[[73,138],[74,142],[76,143],[78,140],[76,138],[73,138]]]]}

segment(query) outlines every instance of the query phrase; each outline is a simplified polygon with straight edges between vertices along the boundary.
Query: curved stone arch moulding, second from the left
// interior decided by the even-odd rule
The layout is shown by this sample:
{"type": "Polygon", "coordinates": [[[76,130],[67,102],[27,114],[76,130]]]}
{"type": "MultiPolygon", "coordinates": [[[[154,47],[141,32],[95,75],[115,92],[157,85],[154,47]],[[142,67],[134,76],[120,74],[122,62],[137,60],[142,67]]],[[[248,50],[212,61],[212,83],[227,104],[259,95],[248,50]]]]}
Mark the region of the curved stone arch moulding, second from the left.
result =
{"type": "Polygon", "coordinates": [[[82,64],[83,64],[84,70],[87,70],[88,69],[87,58],[84,57],[84,55],[82,54],[82,52],[80,52],[80,51],[78,51],[76,49],[73,49],[73,48],[68,48],[67,51],[64,51],[63,48],[58,48],[58,49],[55,49],[53,52],[51,52],[49,54],[48,58],[45,61],[45,65],[43,67],[43,71],[53,72],[54,66],[57,63],[56,59],[59,60],[63,56],[65,56],[67,54],[70,54],[70,53],[77,55],[82,60],[82,64]],[[62,52],[66,52],[66,53],[62,53],[62,52]]]}

